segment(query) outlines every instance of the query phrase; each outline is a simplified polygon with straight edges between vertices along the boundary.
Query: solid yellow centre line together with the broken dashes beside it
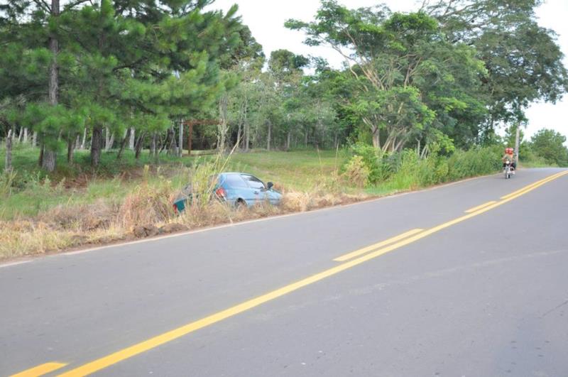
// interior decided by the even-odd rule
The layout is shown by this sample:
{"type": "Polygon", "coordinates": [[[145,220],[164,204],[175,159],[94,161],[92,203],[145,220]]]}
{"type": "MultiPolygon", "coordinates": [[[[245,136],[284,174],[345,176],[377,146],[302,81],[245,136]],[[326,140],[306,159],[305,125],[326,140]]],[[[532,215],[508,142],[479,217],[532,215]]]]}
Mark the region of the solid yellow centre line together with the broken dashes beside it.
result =
{"type": "MultiPolygon", "coordinates": [[[[263,303],[266,303],[271,300],[275,300],[278,297],[291,293],[295,290],[303,288],[307,285],[311,285],[316,283],[324,278],[328,278],[329,276],[336,275],[342,271],[346,271],[349,268],[353,268],[354,266],[358,266],[361,263],[365,263],[366,261],[370,261],[373,258],[377,258],[385,253],[393,251],[397,248],[402,246],[411,244],[419,239],[425,238],[426,236],[430,236],[430,234],[434,234],[437,231],[441,231],[442,229],[446,229],[449,226],[454,224],[458,224],[459,222],[463,222],[466,219],[471,219],[471,217],[478,216],[479,214],[483,214],[493,208],[501,206],[511,200],[514,200],[521,195],[525,195],[527,192],[535,190],[537,187],[545,185],[545,183],[555,180],[563,175],[568,174],[567,171],[563,171],[561,173],[557,173],[555,175],[551,175],[550,177],[546,177],[543,180],[539,180],[531,185],[525,186],[520,190],[515,192],[511,192],[508,195],[501,197],[501,201],[496,202],[487,202],[485,204],[481,204],[481,206],[474,207],[466,211],[466,215],[458,217],[457,219],[453,219],[452,221],[445,222],[443,224],[439,224],[434,226],[430,229],[423,230],[423,229],[412,229],[407,231],[399,236],[395,236],[391,239],[386,241],[381,241],[378,244],[374,244],[371,246],[367,246],[366,248],[361,248],[356,251],[352,251],[351,253],[347,253],[344,256],[339,256],[335,258],[334,261],[344,262],[339,264],[338,266],[334,266],[329,268],[325,271],[317,273],[315,275],[311,275],[307,278],[299,280],[295,283],[285,285],[282,288],[278,288],[277,290],[273,290],[269,293],[264,295],[258,296],[251,300],[247,300],[245,302],[241,302],[238,305],[234,305],[233,307],[229,307],[226,310],[222,310],[220,312],[214,313],[213,315],[209,315],[202,319],[198,319],[197,321],[190,322],[185,324],[181,327],[173,329],[169,332],[165,332],[163,334],[159,334],[151,339],[146,341],[133,344],[132,346],[126,347],[125,349],[121,349],[119,351],[114,352],[114,354],[110,354],[108,356],[103,356],[100,359],[91,361],[87,364],[74,368],[70,371],[60,374],[60,377],[77,377],[77,376],[87,376],[89,374],[95,373],[97,371],[102,370],[103,368],[107,368],[113,364],[119,363],[120,361],[124,361],[126,359],[131,358],[132,356],[136,356],[141,354],[145,351],[158,347],[162,344],[168,343],[173,341],[174,339],[178,339],[184,335],[190,334],[191,332],[195,332],[198,329],[202,329],[207,327],[211,324],[217,323],[222,321],[223,319],[233,317],[234,315],[238,315],[239,313],[245,312],[246,310],[250,310],[253,307],[257,307],[263,303]]],[[[49,373],[54,371],[58,368],[62,368],[67,364],[61,363],[48,363],[42,364],[35,368],[28,369],[27,371],[23,371],[18,373],[14,376],[23,377],[23,376],[41,376],[42,371],[43,373],[49,373]],[[55,369],[54,369],[55,368],[55,369]],[[26,374],[27,373],[27,374],[26,374]],[[32,374],[30,374],[32,373],[32,374]]]]}

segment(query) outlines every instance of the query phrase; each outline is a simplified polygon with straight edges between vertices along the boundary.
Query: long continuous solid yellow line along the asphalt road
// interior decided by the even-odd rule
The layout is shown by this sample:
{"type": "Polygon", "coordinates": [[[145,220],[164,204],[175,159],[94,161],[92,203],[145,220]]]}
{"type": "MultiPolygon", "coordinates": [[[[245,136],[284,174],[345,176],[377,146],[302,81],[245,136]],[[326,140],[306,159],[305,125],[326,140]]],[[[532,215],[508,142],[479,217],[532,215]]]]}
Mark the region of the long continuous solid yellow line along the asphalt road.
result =
{"type": "Polygon", "coordinates": [[[246,310],[250,310],[253,307],[257,307],[258,305],[261,305],[265,302],[275,300],[278,297],[281,297],[281,296],[286,295],[288,293],[291,293],[295,290],[303,288],[306,285],[316,283],[317,281],[323,280],[324,278],[328,278],[329,276],[336,275],[337,273],[340,273],[342,271],[346,271],[349,268],[352,268],[354,266],[358,266],[361,263],[365,263],[366,261],[370,261],[371,259],[376,258],[378,256],[381,256],[385,253],[388,253],[389,251],[393,251],[393,250],[400,248],[402,246],[411,244],[411,243],[413,243],[413,242],[415,242],[419,239],[422,239],[426,236],[429,236],[430,234],[433,234],[437,231],[445,229],[449,226],[452,226],[452,225],[457,224],[459,222],[463,222],[466,219],[471,219],[471,217],[476,217],[479,214],[483,214],[485,212],[488,212],[489,210],[491,210],[493,208],[499,207],[499,206],[501,206],[501,205],[503,205],[507,202],[510,202],[511,200],[514,200],[515,198],[520,197],[521,195],[524,195],[527,192],[535,190],[537,187],[540,187],[540,186],[544,185],[545,183],[550,182],[551,180],[555,180],[558,177],[561,177],[562,175],[565,175],[565,174],[568,174],[568,171],[564,171],[562,173],[552,175],[551,177],[545,178],[544,180],[540,180],[538,182],[535,182],[535,184],[528,185],[527,187],[524,187],[523,189],[518,190],[515,193],[515,195],[512,195],[512,196],[508,195],[508,197],[505,200],[501,200],[501,202],[496,202],[496,203],[490,204],[490,205],[488,205],[484,208],[477,210],[476,212],[471,212],[470,214],[466,214],[464,216],[458,217],[457,219],[453,219],[452,221],[445,222],[444,224],[440,224],[438,226],[434,226],[433,228],[422,231],[419,234],[415,234],[414,236],[410,236],[406,239],[403,239],[402,241],[398,241],[395,244],[391,244],[390,246],[386,246],[384,248],[379,248],[378,250],[373,251],[371,253],[367,253],[364,256],[353,259],[351,261],[347,261],[345,263],[340,264],[339,266],[329,268],[329,269],[322,271],[320,273],[316,273],[315,275],[311,275],[311,276],[304,278],[302,280],[299,280],[295,283],[285,285],[284,287],[278,288],[277,290],[273,290],[272,292],[266,293],[265,295],[261,295],[261,296],[258,296],[256,298],[253,298],[251,300],[241,302],[241,304],[235,305],[233,307],[229,307],[229,309],[222,310],[221,312],[214,313],[213,315],[209,315],[208,317],[204,317],[202,319],[198,319],[195,322],[190,322],[189,324],[185,324],[182,327],[178,327],[177,329],[173,329],[169,332],[165,332],[163,334],[160,334],[156,337],[153,337],[153,338],[148,339],[146,341],[140,342],[138,344],[133,344],[132,346],[126,347],[125,349],[121,349],[119,351],[116,351],[114,354],[110,354],[108,356],[103,356],[100,359],[91,361],[87,364],[84,364],[84,365],[79,366],[75,369],[72,369],[71,371],[67,371],[65,373],[62,373],[59,377],[87,376],[87,375],[92,374],[94,372],[100,371],[103,368],[107,368],[108,366],[119,363],[120,361],[124,361],[126,359],[129,359],[132,356],[136,356],[138,354],[141,354],[144,351],[148,351],[149,349],[153,349],[157,346],[168,343],[168,342],[170,342],[174,339],[178,339],[179,337],[190,334],[190,332],[195,332],[198,329],[202,329],[203,327],[207,327],[211,324],[222,321],[223,319],[232,317],[234,315],[238,315],[241,312],[245,312],[246,310]]]}

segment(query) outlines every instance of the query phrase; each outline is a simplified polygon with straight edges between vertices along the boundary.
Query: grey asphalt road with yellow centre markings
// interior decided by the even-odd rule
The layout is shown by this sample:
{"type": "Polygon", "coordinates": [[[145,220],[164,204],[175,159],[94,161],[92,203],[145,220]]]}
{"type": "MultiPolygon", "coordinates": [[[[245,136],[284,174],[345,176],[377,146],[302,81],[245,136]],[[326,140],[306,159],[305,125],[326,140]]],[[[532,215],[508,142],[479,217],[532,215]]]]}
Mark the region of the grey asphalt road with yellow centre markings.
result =
{"type": "Polygon", "coordinates": [[[0,376],[568,376],[559,172],[1,266],[0,376]]]}

